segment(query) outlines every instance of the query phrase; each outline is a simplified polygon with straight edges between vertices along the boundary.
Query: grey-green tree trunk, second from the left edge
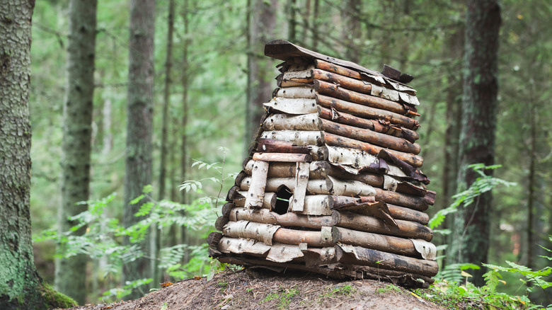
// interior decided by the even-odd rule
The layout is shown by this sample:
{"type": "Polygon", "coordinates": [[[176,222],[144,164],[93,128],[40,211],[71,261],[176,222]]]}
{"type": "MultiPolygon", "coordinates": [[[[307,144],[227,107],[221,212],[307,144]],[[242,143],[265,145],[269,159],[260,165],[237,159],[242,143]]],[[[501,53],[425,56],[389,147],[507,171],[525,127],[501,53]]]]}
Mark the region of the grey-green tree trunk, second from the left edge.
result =
{"type": "MultiPolygon", "coordinates": [[[[67,88],[63,109],[62,205],[58,212],[60,234],[76,224],[68,217],[88,209],[86,205],[77,203],[88,200],[90,185],[96,6],[96,0],[69,2],[67,88]]],[[[85,231],[86,226],[83,226],[73,234],[80,236],[85,231]]],[[[85,254],[56,259],[56,289],[73,297],[79,304],[86,302],[86,261],[85,254]]]]}

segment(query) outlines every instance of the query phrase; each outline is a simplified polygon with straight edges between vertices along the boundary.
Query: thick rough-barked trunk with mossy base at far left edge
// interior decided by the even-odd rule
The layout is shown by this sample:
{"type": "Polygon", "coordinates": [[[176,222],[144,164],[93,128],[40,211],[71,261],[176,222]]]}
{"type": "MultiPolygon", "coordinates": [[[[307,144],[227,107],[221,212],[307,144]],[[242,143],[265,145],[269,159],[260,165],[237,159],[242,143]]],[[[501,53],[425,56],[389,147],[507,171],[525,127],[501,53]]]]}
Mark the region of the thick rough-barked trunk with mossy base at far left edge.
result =
{"type": "Polygon", "coordinates": [[[0,309],[6,310],[70,306],[51,304],[35,268],[30,233],[28,100],[34,4],[8,0],[0,5],[0,309]]]}

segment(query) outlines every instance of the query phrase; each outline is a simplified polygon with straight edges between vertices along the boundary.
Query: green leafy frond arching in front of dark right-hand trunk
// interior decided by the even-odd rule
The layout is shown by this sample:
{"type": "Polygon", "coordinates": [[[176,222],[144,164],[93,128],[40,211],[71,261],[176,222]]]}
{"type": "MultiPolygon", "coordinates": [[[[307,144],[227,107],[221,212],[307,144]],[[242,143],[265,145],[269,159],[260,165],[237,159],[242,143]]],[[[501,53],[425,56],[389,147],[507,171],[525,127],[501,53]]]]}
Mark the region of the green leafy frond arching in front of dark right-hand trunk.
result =
{"type": "MultiPolygon", "coordinates": [[[[500,168],[500,165],[485,166],[483,163],[474,163],[473,165],[468,166],[468,168],[473,169],[473,171],[475,171],[479,175],[479,177],[476,179],[475,182],[473,182],[473,184],[470,185],[467,190],[464,190],[464,192],[452,196],[454,202],[452,202],[449,207],[445,209],[440,209],[439,212],[437,212],[435,216],[430,219],[430,222],[429,224],[427,224],[427,226],[430,226],[431,229],[435,229],[437,226],[442,224],[444,222],[444,218],[448,214],[456,212],[459,206],[471,205],[476,197],[478,197],[479,195],[493,190],[493,188],[498,185],[512,186],[516,184],[513,182],[507,182],[500,178],[495,178],[493,176],[487,176],[485,174],[485,170],[500,168]]],[[[444,234],[449,234],[449,231],[442,232],[444,234]]]]}

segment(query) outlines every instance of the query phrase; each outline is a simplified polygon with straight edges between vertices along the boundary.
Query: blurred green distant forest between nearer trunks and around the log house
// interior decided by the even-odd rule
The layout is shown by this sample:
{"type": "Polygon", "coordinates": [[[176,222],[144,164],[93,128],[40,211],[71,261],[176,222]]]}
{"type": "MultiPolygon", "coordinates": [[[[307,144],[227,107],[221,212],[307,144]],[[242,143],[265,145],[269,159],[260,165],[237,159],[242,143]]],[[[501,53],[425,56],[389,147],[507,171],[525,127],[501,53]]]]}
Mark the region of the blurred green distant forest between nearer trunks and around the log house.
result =
{"type": "MultiPolygon", "coordinates": [[[[495,163],[502,168],[495,176],[517,185],[493,191],[488,263],[500,265],[510,260],[539,269],[547,264],[537,259],[541,248],[536,244],[550,248],[547,235],[552,212],[552,137],[548,134],[552,8],[546,0],[505,0],[501,5],[495,163]]],[[[167,60],[169,7],[169,1],[156,1],[151,184],[155,200],[207,209],[212,217],[206,217],[206,223],[214,224],[214,202],[205,204],[197,199],[219,195],[219,185],[203,182],[202,188],[190,192],[180,192],[178,185],[185,180],[219,178],[215,169],[192,167],[196,160],[224,161],[223,176],[241,170],[256,126],[248,120],[251,107],[268,101],[276,87],[277,62],[263,56],[263,45],[284,38],[367,68],[389,64],[415,76],[410,85],[417,89],[421,103],[418,143],[425,159],[422,171],[432,180],[430,189],[438,193],[430,214],[450,205],[459,171],[464,1],[176,1],[173,45],[167,60]],[[167,62],[172,64],[169,76],[167,62]],[[253,72],[253,68],[262,69],[253,72]],[[163,120],[167,77],[171,82],[166,97],[168,118],[163,120]],[[265,84],[268,90],[263,88],[265,84]],[[161,143],[163,125],[168,126],[166,149],[161,143]],[[160,166],[163,156],[165,168],[160,166]],[[163,182],[164,190],[159,191],[163,182]]],[[[105,209],[105,217],[113,218],[122,218],[124,205],[129,11],[127,1],[116,0],[100,1],[97,11],[89,199],[118,193],[105,209]]],[[[36,235],[55,229],[62,204],[68,29],[68,1],[36,2],[29,101],[33,130],[30,209],[36,235]]],[[[226,179],[224,190],[232,181],[226,179]]],[[[209,224],[199,230],[163,230],[163,243],[197,246],[187,249],[196,260],[180,266],[180,277],[207,272],[208,266],[203,265],[208,264],[206,252],[192,252],[201,249],[202,238],[213,229],[209,224]]],[[[446,244],[446,237],[436,236],[435,243],[446,244]]],[[[35,243],[35,263],[50,283],[54,282],[53,245],[52,241],[35,243]]],[[[103,276],[106,266],[102,262],[102,258],[88,262],[88,302],[96,302],[120,283],[116,274],[103,276]]],[[[522,293],[521,282],[505,280],[506,292],[522,293]]]]}

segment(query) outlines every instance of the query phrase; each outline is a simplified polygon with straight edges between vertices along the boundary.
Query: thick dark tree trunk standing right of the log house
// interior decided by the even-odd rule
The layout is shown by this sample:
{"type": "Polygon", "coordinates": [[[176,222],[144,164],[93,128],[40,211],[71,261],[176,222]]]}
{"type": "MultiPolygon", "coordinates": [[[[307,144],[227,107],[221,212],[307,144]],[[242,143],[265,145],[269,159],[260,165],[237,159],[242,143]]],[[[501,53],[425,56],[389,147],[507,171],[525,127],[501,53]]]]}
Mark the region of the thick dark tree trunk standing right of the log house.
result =
{"type": "MultiPolygon", "coordinates": [[[[495,0],[468,0],[464,56],[464,95],[459,151],[459,191],[477,178],[468,166],[492,165],[495,153],[498,93],[497,52],[500,6],[495,0]]],[[[487,263],[491,195],[485,193],[455,214],[449,258],[455,263],[487,263]]],[[[473,283],[483,285],[485,268],[475,270],[473,283]]]]}

